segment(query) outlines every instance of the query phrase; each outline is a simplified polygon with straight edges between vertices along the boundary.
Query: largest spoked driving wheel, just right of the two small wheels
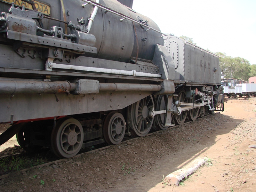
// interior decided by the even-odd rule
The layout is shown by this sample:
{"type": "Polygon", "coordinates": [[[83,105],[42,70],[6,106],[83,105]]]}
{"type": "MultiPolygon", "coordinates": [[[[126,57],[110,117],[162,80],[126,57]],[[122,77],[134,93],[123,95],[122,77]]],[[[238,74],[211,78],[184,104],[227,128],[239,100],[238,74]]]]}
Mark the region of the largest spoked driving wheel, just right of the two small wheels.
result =
{"type": "Polygon", "coordinates": [[[131,121],[132,121],[132,134],[135,136],[143,137],[150,131],[154,117],[149,116],[149,111],[154,108],[154,102],[151,95],[143,98],[132,104],[131,107],[131,121]]]}

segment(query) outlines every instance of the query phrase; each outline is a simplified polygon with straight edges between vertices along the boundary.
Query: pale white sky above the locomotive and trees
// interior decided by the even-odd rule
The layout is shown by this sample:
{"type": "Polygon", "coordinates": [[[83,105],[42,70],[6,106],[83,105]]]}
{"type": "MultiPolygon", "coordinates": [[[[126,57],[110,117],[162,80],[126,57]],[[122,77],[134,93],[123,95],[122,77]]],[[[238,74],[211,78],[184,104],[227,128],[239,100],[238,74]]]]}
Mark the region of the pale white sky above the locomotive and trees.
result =
{"type": "Polygon", "coordinates": [[[132,9],[164,33],[256,64],[256,0],[134,0],[132,9]]]}

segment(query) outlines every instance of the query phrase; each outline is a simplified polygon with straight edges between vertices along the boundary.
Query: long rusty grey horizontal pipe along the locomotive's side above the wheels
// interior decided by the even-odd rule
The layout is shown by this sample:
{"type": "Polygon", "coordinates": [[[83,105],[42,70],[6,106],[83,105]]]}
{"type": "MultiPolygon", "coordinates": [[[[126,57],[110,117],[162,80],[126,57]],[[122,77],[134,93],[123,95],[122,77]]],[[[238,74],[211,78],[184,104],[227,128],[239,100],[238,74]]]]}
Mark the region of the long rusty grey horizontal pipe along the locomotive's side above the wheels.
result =
{"type": "MultiPolygon", "coordinates": [[[[39,94],[61,93],[87,90],[87,86],[71,83],[69,81],[0,81],[0,94],[39,94]]],[[[98,82],[98,81],[97,81],[98,82]]],[[[128,84],[128,83],[99,83],[94,92],[99,91],[151,91],[162,90],[161,85],[156,84],[128,84]]],[[[89,86],[89,85],[88,85],[89,86]]],[[[90,87],[90,86],[89,86],[90,87]]],[[[78,93],[80,94],[80,93],[78,93]]],[[[83,94],[83,93],[81,93],[83,94]]]]}

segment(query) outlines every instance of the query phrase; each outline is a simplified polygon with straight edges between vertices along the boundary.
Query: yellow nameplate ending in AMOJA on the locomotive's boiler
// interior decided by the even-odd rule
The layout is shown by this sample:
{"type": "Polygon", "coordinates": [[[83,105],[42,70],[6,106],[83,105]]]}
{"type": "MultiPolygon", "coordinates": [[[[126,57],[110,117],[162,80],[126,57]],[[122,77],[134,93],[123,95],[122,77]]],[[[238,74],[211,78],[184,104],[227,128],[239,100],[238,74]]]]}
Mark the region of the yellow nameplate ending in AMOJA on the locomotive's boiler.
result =
{"type": "MultiPolygon", "coordinates": [[[[0,1],[3,1],[5,3],[9,3],[9,4],[14,3],[14,5],[19,6],[19,7],[22,7],[24,5],[25,9],[33,10],[31,4],[28,4],[28,3],[24,2],[24,1],[21,1],[21,0],[0,0],[0,1]]],[[[39,12],[43,13],[44,15],[51,15],[51,7],[49,5],[38,2],[38,1],[34,1],[34,2],[35,2],[36,9],[39,12]]]]}

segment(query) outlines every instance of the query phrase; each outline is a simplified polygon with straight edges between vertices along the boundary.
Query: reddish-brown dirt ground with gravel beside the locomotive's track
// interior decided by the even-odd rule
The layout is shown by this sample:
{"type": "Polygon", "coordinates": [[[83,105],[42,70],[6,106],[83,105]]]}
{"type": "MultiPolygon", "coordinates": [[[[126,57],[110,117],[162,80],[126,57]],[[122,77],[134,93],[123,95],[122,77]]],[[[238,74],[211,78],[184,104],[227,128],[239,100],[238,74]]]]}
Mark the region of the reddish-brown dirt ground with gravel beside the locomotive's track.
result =
{"type": "MultiPolygon", "coordinates": [[[[225,111],[0,180],[0,191],[256,191],[256,98],[227,101],[225,111]],[[179,186],[163,177],[208,157],[179,186]]],[[[13,142],[11,145],[13,147],[13,142]]],[[[17,144],[14,144],[17,145],[17,144]]]]}

